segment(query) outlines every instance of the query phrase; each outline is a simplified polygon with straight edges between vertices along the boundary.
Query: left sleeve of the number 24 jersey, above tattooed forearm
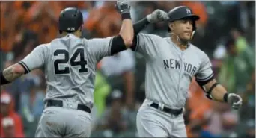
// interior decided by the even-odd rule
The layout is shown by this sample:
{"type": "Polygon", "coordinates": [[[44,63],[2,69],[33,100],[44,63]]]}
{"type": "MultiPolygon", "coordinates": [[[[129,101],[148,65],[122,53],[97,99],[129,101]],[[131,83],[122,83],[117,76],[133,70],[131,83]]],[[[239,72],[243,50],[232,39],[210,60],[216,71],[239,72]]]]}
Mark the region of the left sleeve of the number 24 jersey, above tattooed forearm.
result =
{"type": "Polygon", "coordinates": [[[30,54],[19,61],[19,64],[25,69],[25,73],[31,72],[31,70],[43,67],[46,57],[48,57],[47,54],[49,54],[49,51],[45,45],[37,46],[30,54]]]}

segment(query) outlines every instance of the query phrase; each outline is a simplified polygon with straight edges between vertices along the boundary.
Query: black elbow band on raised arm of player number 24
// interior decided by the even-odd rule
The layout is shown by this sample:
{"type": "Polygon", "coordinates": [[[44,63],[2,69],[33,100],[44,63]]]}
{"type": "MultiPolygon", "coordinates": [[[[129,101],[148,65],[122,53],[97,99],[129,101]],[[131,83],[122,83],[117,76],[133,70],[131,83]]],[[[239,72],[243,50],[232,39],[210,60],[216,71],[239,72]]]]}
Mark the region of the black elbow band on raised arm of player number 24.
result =
{"type": "Polygon", "coordinates": [[[127,49],[125,46],[124,40],[121,35],[115,36],[112,40],[110,55],[117,54],[120,51],[127,49]]]}

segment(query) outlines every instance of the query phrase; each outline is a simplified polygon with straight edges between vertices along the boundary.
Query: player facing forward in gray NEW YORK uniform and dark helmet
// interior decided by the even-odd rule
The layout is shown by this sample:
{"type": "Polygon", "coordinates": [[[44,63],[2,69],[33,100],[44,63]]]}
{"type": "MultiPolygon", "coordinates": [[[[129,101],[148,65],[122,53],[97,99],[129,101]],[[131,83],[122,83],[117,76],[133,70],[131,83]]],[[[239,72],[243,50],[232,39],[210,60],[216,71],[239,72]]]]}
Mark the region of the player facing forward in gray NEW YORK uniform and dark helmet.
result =
{"type": "MultiPolygon", "coordinates": [[[[170,37],[153,34],[135,34],[132,50],[146,60],[146,99],[138,110],[139,137],[187,137],[183,107],[188,97],[189,84],[195,76],[204,88],[207,98],[227,102],[239,109],[242,98],[228,93],[213,77],[210,59],[204,51],[189,41],[199,19],[189,7],[175,7],[169,13],[153,12],[141,19],[146,26],[161,19],[168,21],[170,37]]],[[[202,103],[204,104],[204,103],[202,103]]]]}

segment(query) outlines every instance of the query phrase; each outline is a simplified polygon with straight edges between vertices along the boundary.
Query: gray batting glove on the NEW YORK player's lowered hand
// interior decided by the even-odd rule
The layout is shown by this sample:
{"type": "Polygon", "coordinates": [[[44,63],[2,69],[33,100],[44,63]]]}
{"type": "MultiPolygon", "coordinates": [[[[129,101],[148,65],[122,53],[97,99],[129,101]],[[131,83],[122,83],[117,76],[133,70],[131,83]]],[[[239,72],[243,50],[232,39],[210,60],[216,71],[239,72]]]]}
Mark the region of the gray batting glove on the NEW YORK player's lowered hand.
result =
{"type": "Polygon", "coordinates": [[[242,106],[242,98],[240,95],[230,93],[228,94],[228,104],[231,104],[235,110],[238,110],[242,106]]]}

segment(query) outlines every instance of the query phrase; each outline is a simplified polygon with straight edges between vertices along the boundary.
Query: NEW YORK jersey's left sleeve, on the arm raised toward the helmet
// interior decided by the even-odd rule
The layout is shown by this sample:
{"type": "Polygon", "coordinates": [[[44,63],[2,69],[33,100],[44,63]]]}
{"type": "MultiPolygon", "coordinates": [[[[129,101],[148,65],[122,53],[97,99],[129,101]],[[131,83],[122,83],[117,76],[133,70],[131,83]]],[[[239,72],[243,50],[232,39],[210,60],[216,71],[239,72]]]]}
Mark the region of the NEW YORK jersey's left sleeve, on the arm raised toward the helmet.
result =
{"type": "Polygon", "coordinates": [[[160,38],[153,34],[137,34],[131,49],[148,57],[154,57],[157,54],[156,43],[160,42],[160,38]]]}

